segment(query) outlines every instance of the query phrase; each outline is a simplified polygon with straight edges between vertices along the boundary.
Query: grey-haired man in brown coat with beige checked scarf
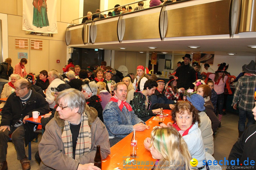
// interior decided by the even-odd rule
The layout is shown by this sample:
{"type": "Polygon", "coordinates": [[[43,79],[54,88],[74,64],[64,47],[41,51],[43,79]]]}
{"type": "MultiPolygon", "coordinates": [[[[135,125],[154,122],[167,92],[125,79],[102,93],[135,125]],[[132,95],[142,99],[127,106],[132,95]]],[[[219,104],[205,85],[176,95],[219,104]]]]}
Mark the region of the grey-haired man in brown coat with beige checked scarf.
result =
{"type": "Polygon", "coordinates": [[[96,109],[85,103],[84,95],[76,89],[66,89],[56,98],[54,119],[38,145],[39,169],[97,169],[94,166],[96,145],[102,159],[110,154],[108,131],[98,118],[96,109]]]}

